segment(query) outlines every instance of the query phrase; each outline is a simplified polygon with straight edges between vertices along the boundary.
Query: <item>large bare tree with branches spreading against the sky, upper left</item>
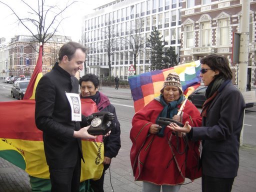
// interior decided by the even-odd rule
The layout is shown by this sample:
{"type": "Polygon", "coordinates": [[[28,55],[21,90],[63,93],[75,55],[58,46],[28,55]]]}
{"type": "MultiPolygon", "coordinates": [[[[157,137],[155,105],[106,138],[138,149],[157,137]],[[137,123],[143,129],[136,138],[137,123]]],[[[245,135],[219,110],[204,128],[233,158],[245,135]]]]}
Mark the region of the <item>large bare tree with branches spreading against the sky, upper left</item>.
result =
{"type": "Polygon", "coordinates": [[[0,3],[11,10],[18,21],[32,34],[36,41],[44,44],[54,35],[61,21],[65,19],[65,17],[62,17],[62,13],[77,1],[67,1],[62,8],[59,8],[56,4],[46,5],[44,4],[45,0],[37,0],[37,7],[32,7],[26,0],[20,0],[20,2],[24,5],[22,6],[24,10],[27,8],[29,14],[26,17],[21,17],[13,7],[0,1],[0,3]]]}

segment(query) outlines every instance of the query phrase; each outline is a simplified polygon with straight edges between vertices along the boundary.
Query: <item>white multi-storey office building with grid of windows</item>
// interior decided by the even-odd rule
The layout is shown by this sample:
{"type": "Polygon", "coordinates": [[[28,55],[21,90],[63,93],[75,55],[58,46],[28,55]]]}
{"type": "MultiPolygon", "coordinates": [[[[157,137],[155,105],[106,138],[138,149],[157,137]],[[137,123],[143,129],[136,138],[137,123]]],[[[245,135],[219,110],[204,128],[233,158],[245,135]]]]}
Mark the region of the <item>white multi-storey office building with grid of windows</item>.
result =
{"type": "Polygon", "coordinates": [[[150,47],[147,38],[156,27],[165,40],[165,47],[173,46],[179,54],[181,42],[181,0],[114,0],[95,8],[84,17],[83,43],[89,47],[86,72],[108,76],[107,46],[110,46],[111,76],[127,79],[128,69],[134,65],[132,49],[136,37],[142,39],[136,57],[136,74],[149,71],[150,47]],[[111,37],[109,38],[108,33],[111,37]]]}

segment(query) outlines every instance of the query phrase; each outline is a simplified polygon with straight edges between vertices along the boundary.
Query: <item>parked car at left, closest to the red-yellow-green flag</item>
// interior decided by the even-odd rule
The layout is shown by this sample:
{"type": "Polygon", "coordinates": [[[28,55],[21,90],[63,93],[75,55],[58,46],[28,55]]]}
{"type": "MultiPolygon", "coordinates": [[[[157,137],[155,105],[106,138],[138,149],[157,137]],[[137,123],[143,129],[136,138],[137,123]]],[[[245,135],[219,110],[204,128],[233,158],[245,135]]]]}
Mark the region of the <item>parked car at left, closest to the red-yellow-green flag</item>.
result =
{"type": "Polygon", "coordinates": [[[16,80],[10,91],[10,95],[12,98],[17,97],[19,100],[22,100],[27,88],[29,80],[16,80]]]}

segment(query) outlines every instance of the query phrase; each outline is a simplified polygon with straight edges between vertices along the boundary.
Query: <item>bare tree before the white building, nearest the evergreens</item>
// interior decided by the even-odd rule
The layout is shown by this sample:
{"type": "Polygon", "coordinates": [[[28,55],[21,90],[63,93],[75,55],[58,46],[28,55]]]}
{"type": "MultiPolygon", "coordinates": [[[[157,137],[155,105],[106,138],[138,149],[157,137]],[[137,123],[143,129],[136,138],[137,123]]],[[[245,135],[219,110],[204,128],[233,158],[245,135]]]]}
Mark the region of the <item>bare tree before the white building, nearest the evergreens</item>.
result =
{"type": "Polygon", "coordinates": [[[142,31],[144,29],[144,20],[143,19],[135,19],[134,26],[131,26],[129,37],[124,38],[125,43],[127,43],[131,49],[131,53],[133,55],[133,66],[135,69],[136,74],[136,58],[140,51],[142,51],[142,48],[144,47],[144,44],[147,42],[147,40],[144,38],[144,35],[142,34],[142,31]]]}

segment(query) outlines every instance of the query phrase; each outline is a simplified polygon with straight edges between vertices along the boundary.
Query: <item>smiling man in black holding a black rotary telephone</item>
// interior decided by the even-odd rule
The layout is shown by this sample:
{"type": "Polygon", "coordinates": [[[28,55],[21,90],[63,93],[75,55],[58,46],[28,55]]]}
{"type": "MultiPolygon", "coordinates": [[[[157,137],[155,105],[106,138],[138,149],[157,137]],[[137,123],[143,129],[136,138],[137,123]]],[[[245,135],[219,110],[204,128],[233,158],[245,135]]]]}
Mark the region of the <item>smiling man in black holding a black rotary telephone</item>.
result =
{"type": "Polygon", "coordinates": [[[43,131],[52,192],[79,191],[81,138],[96,138],[87,132],[89,122],[81,115],[78,80],[74,77],[83,69],[85,53],[86,48],[77,42],[62,45],[59,63],[40,78],[36,87],[35,123],[43,131]]]}

